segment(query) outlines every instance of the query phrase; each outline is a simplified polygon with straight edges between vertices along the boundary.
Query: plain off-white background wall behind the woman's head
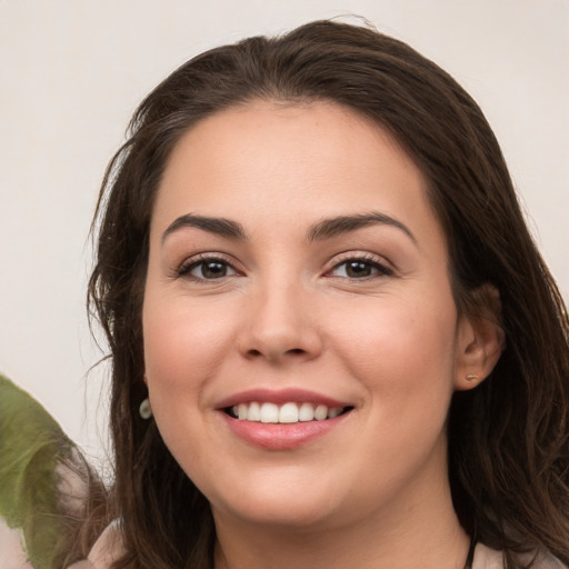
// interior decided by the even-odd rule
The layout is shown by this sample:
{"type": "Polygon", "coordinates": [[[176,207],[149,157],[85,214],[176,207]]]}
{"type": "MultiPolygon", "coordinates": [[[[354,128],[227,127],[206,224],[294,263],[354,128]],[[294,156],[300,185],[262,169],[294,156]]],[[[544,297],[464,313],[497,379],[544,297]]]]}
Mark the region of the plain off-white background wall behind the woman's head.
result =
{"type": "Polygon", "coordinates": [[[209,47],[346,13],[479,101],[569,299],[568,0],[0,0],[0,370],[89,452],[107,391],[104,366],[89,372],[88,231],[130,113],[209,47]]]}

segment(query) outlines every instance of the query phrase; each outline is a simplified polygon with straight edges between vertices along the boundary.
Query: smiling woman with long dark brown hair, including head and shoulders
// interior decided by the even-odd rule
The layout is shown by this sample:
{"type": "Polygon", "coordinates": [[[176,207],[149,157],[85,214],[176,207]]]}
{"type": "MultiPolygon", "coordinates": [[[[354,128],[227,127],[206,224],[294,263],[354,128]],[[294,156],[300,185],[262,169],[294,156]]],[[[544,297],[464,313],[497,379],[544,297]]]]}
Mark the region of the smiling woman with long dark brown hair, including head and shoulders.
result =
{"type": "Polygon", "coordinates": [[[432,62],[335,22],[203,53],[136,112],[98,222],[96,567],[569,563],[567,311],[432,62]]]}

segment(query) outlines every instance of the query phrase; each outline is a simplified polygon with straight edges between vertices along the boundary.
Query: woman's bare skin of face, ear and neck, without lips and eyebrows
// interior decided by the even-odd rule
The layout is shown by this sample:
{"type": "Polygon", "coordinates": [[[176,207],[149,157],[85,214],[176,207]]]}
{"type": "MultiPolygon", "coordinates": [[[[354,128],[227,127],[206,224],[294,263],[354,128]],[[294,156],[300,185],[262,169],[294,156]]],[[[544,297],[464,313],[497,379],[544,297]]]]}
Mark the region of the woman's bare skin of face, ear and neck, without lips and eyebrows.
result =
{"type": "Polygon", "coordinates": [[[210,500],[217,567],[463,566],[446,418],[501,339],[457,312],[448,263],[420,171],[350,110],[258,101],[182,137],[151,222],[146,375],[167,446],[210,500]],[[405,229],[307,238],[325,219],[371,212],[405,229]],[[187,214],[232,220],[246,238],[167,232],[187,214]],[[200,256],[224,276],[204,277],[200,256]],[[353,409],[271,450],[236,436],[218,408],[257,388],[353,409]]]}

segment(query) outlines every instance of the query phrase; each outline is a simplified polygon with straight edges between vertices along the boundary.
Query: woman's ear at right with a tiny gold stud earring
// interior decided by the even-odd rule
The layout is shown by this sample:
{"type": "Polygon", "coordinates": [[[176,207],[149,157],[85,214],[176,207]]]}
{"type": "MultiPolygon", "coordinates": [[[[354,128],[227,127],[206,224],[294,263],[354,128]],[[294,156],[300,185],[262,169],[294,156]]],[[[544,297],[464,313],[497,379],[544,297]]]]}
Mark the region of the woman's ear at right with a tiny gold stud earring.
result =
{"type": "Polygon", "coordinates": [[[468,313],[459,316],[455,366],[455,389],[468,390],[492,371],[506,346],[501,327],[500,293],[483,284],[469,295],[468,313]]]}

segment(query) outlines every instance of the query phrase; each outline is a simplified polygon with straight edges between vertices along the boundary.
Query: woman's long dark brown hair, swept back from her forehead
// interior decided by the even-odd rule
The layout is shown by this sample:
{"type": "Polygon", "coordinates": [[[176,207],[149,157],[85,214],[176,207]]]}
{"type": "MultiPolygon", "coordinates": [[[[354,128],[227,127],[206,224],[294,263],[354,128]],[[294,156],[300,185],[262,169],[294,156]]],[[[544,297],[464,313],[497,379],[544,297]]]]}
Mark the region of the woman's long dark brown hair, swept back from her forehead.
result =
{"type": "Polygon", "coordinates": [[[113,510],[126,553],[117,567],[210,568],[214,526],[206,498],[153,421],[138,413],[143,382],[141,306],[152,203],[167,159],[197,121],[256,99],[330,100],[391,132],[428,180],[447,234],[457,306],[485,311],[501,296],[507,349],[491,376],[456,393],[449,478],[456,511],[476,539],[569,563],[569,322],[528,232],[496,138],[445,71],[375,30],[331,21],[250,38],[188,61],[136,111],[107,170],[93,227],[92,312],[112,361],[113,510]]]}

